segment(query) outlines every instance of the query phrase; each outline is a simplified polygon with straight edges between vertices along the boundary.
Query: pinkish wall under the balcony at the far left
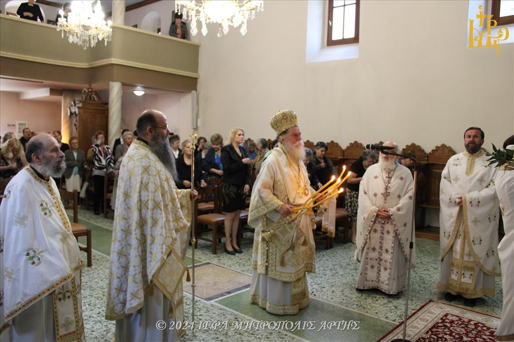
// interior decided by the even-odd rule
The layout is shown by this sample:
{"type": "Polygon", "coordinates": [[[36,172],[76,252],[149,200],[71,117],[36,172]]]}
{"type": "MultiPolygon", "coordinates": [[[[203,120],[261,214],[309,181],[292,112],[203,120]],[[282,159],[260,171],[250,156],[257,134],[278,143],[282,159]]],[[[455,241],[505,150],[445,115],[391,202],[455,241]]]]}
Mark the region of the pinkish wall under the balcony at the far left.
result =
{"type": "MultiPolygon", "coordinates": [[[[19,93],[0,91],[0,132],[14,131],[16,120],[26,121],[34,132],[61,130],[61,103],[22,100],[19,93]]],[[[18,137],[21,137],[18,134],[18,137]]]]}

